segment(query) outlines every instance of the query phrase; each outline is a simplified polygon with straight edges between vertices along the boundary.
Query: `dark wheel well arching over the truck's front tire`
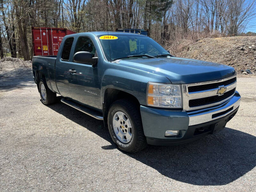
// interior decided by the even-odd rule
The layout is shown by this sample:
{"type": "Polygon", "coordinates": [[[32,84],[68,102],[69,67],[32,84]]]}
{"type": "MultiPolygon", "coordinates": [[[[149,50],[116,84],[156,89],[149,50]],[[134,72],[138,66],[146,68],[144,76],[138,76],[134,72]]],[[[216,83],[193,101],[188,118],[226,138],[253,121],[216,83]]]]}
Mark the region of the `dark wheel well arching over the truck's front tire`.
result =
{"type": "Polygon", "coordinates": [[[103,104],[103,118],[104,124],[108,127],[108,110],[113,102],[119,99],[129,99],[136,103],[136,106],[140,108],[140,102],[132,94],[120,91],[118,89],[108,88],[104,94],[104,104],[103,104]]]}

